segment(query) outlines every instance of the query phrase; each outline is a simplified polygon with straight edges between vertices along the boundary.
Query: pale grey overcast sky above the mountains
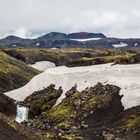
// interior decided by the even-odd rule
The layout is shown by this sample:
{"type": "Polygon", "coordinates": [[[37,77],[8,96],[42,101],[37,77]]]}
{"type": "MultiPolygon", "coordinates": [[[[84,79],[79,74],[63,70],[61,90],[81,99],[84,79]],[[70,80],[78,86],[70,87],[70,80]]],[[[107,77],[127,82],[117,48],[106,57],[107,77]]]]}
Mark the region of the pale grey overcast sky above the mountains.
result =
{"type": "Polygon", "coordinates": [[[140,0],[0,0],[0,37],[51,31],[140,38],[140,0]]]}

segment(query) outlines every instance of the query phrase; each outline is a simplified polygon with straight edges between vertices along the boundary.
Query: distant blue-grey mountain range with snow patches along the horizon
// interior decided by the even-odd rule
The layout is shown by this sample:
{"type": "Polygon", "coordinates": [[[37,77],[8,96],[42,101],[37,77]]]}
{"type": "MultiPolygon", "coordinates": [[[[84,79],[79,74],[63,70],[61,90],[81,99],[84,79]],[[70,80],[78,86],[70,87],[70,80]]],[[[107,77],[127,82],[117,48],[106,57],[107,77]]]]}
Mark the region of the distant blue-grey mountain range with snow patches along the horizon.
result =
{"type": "Polygon", "coordinates": [[[36,39],[23,39],[17,36],[8,36],[0,40],[0,45],[10,48],[132,48],[140,47],[139,39],[108,38],[102,33],[59,33],[51,32],[36,39]]]}

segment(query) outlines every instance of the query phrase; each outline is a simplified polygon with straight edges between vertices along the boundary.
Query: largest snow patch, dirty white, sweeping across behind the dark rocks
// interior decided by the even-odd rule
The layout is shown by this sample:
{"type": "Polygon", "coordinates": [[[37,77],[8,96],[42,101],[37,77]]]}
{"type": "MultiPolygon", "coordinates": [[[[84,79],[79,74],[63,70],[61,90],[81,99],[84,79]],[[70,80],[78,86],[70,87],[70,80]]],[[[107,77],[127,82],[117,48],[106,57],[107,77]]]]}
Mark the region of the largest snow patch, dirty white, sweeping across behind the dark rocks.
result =
{"type": "Polygon", "coordinates": [[[48,87],[50,84],[55,84],[56,88],[59,88],[59,86],[63,88],[63,94],[57,101],[58,104],[65,98],[64,93],[75,84],[77,84],[78,90],[82,91],[86,87],[91,87],[97,84],[97,82],[101,82],[117,85],[121,88],[120,95],[124,95],[122,104],[127,109],[140,105],[139,77],[140,64],[114,66],[111,66],[111,64],[102,64],[74,68],[61,66],[48,69],[35,76],[25,86],[5,94],[17,101],[23,101],[34,91],[48,87]]]}

